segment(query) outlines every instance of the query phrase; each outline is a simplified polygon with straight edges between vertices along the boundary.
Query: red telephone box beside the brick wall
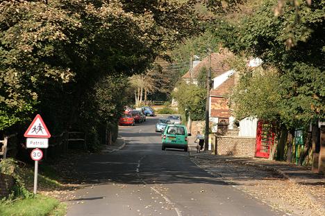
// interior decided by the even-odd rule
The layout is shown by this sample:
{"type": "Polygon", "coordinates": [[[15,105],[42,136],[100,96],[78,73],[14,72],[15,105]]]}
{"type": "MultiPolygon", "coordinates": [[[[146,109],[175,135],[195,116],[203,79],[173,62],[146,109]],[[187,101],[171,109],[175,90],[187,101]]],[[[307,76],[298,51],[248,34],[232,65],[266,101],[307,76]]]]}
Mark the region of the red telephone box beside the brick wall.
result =
{"type": "Polygon", "coordinates": [[[269,158],[269,152],[274,144],[274,136],[272,124],[258,121],[255,147],[256,157],[269,158]]]}

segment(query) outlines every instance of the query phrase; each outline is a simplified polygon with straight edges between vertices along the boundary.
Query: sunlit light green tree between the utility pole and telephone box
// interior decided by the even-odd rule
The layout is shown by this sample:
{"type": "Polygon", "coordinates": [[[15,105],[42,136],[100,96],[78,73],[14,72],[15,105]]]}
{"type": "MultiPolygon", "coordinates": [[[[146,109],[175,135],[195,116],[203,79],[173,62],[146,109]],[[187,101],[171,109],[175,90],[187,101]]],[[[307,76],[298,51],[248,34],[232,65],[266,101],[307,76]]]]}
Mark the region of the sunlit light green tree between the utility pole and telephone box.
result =
{"type": "Polygon", "coordinates": [[[280,116],[280,80],[276,71],[262,68],[246,71],[233,91],[231,102],[237,119],[253,116],[276,121],[280,116]]]}

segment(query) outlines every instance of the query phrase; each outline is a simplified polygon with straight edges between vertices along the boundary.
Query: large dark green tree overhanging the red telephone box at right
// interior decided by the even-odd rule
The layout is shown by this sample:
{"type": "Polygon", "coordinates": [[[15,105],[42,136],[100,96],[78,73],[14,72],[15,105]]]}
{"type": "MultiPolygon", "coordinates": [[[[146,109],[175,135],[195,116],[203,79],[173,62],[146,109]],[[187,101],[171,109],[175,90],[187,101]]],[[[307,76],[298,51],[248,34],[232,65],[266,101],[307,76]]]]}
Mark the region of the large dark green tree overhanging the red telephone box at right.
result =
{"type": "MultiPolygon", "coordinates": [[[[238,108],[238,115],[278,119],[279,124],[293,129],[325,117],[325,39],[322,36],[325,2],[313,1],[311,6],[301,2],[299,8],[285,4],[283,12],[278,16],[274,16],[275,6],[276,1],[261,2],[253,13],[238,21],[237,28],[230,33],[238,43],[233,44],[225,39],[224,45],[237,53],[244,51],[246,55],[259,56],[267,70],[273,67],[278,71],[275,82],[274,78],[260,82],[266,87],[276,83],[278,87],[272,87],[276,91],[269,89],[275,97],[274,102],[259,92],[255,92],[256,98],[249,96],[250,92],[247,96],[242,93],[246,100],[243,102],[244,107],[252,109],[240,111],[238,108]],[[261,105],[260,101],[269,103],[270,107],[261,105]],[[264,110],[261,111],[263,113],[256,112],[255,105],[264,110]]],[[[244,74],[245,77],[247,74],[244,74]]],[[[247,86],[242,85],[242,91],[254,90],[250,85],[257,87],[254,80],[245,82],[247,86]]]]}

